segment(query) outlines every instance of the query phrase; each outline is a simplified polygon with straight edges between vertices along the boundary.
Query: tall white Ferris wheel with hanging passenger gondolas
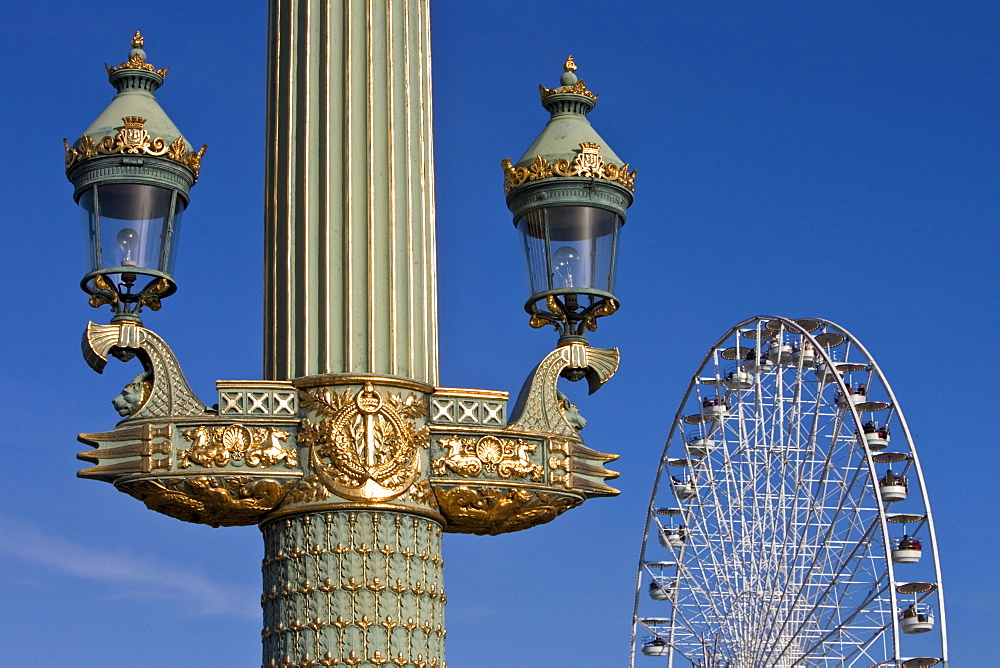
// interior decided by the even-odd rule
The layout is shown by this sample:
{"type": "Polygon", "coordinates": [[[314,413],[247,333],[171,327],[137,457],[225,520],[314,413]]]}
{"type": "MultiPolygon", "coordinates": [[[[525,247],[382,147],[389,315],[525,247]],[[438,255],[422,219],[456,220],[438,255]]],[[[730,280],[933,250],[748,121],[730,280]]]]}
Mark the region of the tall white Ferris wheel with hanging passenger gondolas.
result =
{"type": "Polygon", "coordinates": [[[633,668],[948,665],[910,431],[832,322],[760,316],[712,346],[660,459],[638,570],[633,668]]]}

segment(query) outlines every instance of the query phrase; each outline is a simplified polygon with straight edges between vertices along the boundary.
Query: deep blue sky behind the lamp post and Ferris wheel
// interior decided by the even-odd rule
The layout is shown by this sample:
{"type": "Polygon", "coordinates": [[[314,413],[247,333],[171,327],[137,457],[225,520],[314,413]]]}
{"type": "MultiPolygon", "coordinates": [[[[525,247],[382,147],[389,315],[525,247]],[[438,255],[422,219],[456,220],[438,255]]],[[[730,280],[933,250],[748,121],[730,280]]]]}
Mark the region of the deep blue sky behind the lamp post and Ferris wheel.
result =
{"type": "MultiPolygon", "coordinates": [[[[0,25],[0,646],[8,665],[256,665],[257,529],[184,524],[75,478],[76,433],[114,425],[136,368],[80,358],[87,320],[108,315],[77,287],[61,140],[111,99],[103,65],[141,28],[171,68],[162,106],[209,145],[180,289],[146,325],[209,403],[216,379],[259,377],[266,4],[103,6],[19,3],[0,25]]],[[[622,366],[593,397],[566,390],[588,445],[622,455],[622,495],[449,536],[451,665],[625,662],[671,418],[712,342],[759,313],[833,320],[878,360],[937,519],[952,665],[994,660],[998,28],[995,2],[433,3],[442,384],[516,391],[555,342],[522,311],[499,163],[541,130],[537,85],[568,53],[600,95],[594,126],[639,172],[622,309],[591,338],[622,366]]]]}

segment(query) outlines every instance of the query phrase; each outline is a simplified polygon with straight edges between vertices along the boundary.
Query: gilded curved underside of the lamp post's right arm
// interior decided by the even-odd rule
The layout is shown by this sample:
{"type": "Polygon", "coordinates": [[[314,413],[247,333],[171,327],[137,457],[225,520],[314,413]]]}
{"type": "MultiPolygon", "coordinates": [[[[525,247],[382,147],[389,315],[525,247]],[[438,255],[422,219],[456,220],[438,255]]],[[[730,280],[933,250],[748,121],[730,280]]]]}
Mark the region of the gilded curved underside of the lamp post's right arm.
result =
{"type": "Polygon", "coordinates": [[[437,492],[448,531],[495,536],[521,531],[579,505],[582,499],[531,489],[460,486],[437,492]]]}

